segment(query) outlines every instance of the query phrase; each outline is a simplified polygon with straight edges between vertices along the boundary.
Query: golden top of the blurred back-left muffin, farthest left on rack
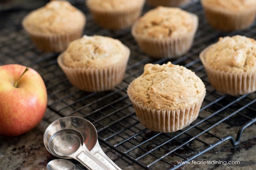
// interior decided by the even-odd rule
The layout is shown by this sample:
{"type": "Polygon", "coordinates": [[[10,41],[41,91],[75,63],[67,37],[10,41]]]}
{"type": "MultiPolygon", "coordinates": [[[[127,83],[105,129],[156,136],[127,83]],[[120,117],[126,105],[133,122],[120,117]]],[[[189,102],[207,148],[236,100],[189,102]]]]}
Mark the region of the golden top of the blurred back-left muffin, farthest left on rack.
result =
{"type": "Polygon", "coordinates": [[[26,15],[22,24],[34,34],[67,34],[83,28],[85,22],[85,15],[68,1],[53,0],[26,15]]]}

